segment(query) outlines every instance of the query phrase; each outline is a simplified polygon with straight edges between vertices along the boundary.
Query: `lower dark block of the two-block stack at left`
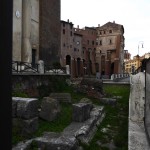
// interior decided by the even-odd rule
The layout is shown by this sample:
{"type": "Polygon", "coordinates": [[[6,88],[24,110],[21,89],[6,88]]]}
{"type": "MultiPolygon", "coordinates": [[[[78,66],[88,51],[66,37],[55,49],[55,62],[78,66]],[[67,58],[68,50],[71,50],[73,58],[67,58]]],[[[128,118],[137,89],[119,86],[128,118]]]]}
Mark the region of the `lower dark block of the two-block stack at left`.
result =
{"type": "Polygon", "coordinates": [[[13,127],[17,128],[21,135],[29,135],[38,129],[38,117],[32,119],[13,118],[13,127]]]}

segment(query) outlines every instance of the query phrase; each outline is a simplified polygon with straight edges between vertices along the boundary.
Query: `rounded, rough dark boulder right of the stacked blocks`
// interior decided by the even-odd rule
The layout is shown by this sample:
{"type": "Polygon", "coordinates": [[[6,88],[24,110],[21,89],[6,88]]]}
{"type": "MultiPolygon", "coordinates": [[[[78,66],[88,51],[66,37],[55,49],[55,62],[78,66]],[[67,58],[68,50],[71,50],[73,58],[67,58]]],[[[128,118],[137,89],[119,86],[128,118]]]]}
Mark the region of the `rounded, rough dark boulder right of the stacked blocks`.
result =
{"type": "Polygon", "coordinates": [[[58,117],[60,113],[60,105],[56,99],[44,97],[41,104],[39,116],[47,121],[52,121],[58,117]]]}

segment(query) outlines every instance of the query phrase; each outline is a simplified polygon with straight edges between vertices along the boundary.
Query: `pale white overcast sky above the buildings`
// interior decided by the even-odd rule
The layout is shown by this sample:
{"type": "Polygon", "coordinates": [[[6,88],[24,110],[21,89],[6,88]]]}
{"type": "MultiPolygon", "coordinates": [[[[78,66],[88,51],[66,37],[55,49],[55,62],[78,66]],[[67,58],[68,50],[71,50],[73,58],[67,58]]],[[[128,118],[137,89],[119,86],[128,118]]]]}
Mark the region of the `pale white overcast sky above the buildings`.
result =
{"type": "Polygon", "coordinates": [[[150,0],[61,0],[61,20],[67,19],[80,28],[115,21],[124,26],[124,49],[131,57],[138,46],[140,56],[150,52],[150,0]]]}

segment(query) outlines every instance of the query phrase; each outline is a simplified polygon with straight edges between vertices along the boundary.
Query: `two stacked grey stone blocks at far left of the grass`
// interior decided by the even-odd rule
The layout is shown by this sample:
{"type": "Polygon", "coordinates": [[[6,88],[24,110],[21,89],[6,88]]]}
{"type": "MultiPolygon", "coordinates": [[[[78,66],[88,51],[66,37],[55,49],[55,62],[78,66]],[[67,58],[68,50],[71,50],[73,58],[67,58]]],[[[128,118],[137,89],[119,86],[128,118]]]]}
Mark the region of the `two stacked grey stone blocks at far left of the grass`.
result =
{"type": "Polygon", "coordinates": [[[38,100],[36,98],[12,98],[12,123],[21,135],[29,135],[38,129],[38,100]]]}

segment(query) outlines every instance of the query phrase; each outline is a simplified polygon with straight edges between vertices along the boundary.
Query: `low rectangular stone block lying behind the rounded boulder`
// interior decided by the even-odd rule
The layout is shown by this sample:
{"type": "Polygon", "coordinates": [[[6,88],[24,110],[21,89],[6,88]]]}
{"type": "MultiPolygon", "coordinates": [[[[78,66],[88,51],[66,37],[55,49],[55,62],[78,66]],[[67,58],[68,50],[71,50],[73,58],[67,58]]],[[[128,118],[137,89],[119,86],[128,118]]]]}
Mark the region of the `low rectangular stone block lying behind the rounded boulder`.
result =
{"type": "Polygon", "coordinates": [[[51,93],[50,97],[57,99],[59,102],[71,103],[70,93],[51,93]]]}

